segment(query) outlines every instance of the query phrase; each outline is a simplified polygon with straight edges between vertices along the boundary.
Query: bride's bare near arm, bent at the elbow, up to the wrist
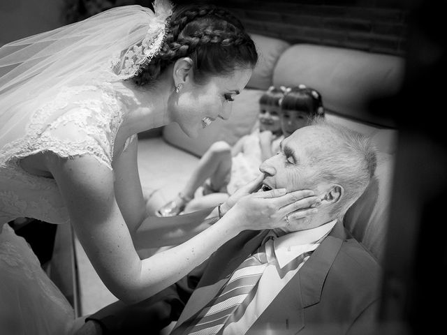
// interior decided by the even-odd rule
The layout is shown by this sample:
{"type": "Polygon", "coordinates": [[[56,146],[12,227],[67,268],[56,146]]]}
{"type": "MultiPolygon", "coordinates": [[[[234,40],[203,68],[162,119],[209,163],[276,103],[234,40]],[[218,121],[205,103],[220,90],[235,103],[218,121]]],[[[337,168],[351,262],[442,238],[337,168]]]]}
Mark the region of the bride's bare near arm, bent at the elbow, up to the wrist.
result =
{"type": "Polygon", "coordinates": [[[113,172],[92,156],[48,163],[91,264],[118,299],[133,303],[172,285],[246,229],[221,220],[184,244],[140,260],[115,200],[113,172]]]}

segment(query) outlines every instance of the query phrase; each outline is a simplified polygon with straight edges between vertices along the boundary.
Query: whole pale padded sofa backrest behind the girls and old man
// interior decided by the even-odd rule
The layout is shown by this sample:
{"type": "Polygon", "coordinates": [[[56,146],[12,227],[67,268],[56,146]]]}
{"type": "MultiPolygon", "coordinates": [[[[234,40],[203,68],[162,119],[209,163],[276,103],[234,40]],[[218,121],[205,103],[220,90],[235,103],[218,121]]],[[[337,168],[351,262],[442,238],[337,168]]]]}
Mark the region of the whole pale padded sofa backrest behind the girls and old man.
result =
{"type": "Polygon", "coordinates": [[[318,45],[288,45],[281,40],[252,35],[260,61],[251,80],[233,103],[228,121],[214,121],[196,139],[184,135],[177,124],[163,129],[166,142],[202,156],[213,142],[230,145],[253,128],[258,100],[270,84],[318,89],[328,107],[326,118],[368,135],[379,150],[376,176],[345,216],[344,225],[379,261],[383,258],[386,223],[393,183],[397,130],[369,114],[374,96],[393,94],[400,88],[404,60],[383,54],[318,45]],[[269,79],[270,78],[270,79],[269,79]],[[360,121],[362,120],[362,121],[360,121]]]}

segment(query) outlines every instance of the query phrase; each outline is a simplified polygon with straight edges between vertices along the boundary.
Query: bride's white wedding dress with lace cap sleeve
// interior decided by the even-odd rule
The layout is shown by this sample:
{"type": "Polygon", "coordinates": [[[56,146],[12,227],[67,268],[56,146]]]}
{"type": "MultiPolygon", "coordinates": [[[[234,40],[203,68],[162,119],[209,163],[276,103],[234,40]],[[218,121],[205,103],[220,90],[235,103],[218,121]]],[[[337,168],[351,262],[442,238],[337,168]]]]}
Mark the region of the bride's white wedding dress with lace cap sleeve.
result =
{"type": "Polygon", "coordinates": [[[20,159],[49,150],[65,158],[91,155],[112,169],[115,135],[124,106],[131,105],[111,84],[62,88],[24,120],[26,135],[0,148],[1,335],[64,335],[74,320],[73,308],[36,255],[6,224],[17,217],[69,224],[54,179],[29,174],[20,159]]]}

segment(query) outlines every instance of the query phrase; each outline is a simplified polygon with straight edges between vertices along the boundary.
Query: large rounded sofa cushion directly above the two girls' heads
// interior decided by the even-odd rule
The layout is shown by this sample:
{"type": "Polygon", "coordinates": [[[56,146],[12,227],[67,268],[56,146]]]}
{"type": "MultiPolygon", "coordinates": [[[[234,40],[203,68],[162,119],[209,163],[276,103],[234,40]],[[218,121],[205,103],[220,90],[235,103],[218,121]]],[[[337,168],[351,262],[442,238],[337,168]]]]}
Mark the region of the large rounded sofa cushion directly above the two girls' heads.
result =
{"type": "Polygon", "coordinates": [[[390,120],[368,112],[373,97],[395,94],[402,83],[404,59],[323,45],[298,44],[281,54],[274,86],[306,84],[320,91],[325,108],[382,126],[390,120]]]}

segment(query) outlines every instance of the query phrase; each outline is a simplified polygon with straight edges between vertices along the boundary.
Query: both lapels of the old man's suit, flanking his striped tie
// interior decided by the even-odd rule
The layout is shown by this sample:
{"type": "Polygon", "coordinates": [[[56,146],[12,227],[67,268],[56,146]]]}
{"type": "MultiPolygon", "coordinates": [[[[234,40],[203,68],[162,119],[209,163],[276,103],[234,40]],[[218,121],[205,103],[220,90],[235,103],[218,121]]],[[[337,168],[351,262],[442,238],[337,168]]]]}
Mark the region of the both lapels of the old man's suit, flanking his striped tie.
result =
{"type": "MultiPolygon", "coordinates": [[[[267,234],[268,230],[261,234],[256,231],[242,232],[210,257],[210,265],[189,299],[177,327],[217,295],[226,283],[226,278],[258,248],[267,234]],[[231,255],[234,257],[228,260],[231,255]]],[[[325,278],[342,246],[344,236],[343,224],[337,222],[305,265],[256,320],[247,335],[270,334],[271,331],[281,335],[296,334],[305,327],[304,308],[320,301],[325,278]]]]}

